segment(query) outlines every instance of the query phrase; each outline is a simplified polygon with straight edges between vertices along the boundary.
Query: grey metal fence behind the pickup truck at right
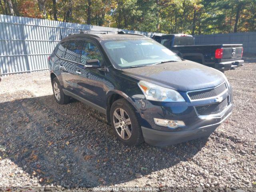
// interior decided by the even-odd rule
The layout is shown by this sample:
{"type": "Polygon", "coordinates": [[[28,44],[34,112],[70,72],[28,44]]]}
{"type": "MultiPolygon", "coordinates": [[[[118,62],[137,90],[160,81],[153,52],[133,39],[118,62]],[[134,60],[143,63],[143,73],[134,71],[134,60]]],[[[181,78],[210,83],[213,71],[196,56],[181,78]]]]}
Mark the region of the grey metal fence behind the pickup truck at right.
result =
{"type": "Polygon", "coordinates": [[[243,44],[244,53],[256,54],[256,32],[195,35],[197,45],[243,44]]]}

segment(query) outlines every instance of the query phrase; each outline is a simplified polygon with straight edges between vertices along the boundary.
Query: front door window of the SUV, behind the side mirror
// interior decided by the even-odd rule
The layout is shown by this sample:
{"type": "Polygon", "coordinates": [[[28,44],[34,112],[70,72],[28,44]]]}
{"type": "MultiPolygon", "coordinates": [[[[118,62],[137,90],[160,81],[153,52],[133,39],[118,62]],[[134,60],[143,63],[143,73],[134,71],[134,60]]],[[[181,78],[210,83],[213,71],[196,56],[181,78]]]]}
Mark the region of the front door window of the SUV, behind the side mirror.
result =
{"type": "Polygon", "coordinates": [[[94,43],[86,41],[82,49],[81,63],[86,64],[86,61],[91,59],[98,59],[102,64],[103,59],[98,47],[94,43]]]}

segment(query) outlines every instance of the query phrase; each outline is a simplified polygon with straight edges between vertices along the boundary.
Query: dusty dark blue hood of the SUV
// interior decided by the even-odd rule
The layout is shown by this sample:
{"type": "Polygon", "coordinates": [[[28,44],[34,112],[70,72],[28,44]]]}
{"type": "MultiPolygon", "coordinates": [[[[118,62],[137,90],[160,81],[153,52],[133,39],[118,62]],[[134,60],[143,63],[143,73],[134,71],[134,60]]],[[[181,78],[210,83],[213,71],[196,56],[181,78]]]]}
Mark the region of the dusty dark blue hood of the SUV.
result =
{"type": "Polygon", "coordinates": [[[215,87],[225,81],[222,72],[188,60],[122,70],[138,80],[184,92],[215,87]]]}

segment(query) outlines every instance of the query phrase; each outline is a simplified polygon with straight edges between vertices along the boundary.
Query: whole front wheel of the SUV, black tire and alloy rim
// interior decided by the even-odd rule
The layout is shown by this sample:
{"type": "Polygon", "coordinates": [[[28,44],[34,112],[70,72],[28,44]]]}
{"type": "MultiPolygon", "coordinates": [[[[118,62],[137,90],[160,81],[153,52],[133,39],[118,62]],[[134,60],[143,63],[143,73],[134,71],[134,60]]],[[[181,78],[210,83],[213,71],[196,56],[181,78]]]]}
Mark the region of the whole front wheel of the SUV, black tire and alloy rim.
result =
{"type": "Polygon", "coordinates": [[[118,99],[112,104],[110,109],[110,118],[114,134],[122,143],[128,146],[136,146],[144,142],[141,126],[138,122],[138,118],[135,114],[134,108],[127,100],[118,99]],[[121,109],[124,110],[123,120],[122,116],[120,116],[122,111],[121,109]],[[120,118],[119,120],[118,118],[116,118],[117,115],[118,118],[120,118]],[[130,118],[130,121],[128,118],[130,118]],[[116,125],[116,128],[114,124],[116,125]],[[128,129],[130,130],[130,133],[128,129]]]}

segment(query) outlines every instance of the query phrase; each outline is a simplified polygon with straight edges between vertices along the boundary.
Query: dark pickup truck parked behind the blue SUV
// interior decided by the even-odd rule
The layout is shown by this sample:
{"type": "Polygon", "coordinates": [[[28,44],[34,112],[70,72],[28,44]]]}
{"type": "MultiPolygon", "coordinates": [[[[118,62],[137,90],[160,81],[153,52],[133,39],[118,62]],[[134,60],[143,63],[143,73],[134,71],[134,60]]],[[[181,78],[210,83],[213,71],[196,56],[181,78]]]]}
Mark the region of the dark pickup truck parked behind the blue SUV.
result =
{"type": "Polygon", "coordinates": [[[244,65],[242,44],[195,45],[193,36],[186,34],[155,35],[152,39],[172,50],[181,58],[220,71],[244,65]]]}

